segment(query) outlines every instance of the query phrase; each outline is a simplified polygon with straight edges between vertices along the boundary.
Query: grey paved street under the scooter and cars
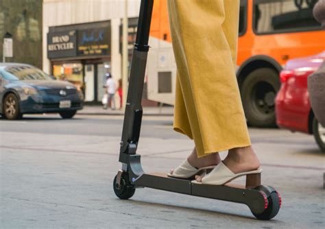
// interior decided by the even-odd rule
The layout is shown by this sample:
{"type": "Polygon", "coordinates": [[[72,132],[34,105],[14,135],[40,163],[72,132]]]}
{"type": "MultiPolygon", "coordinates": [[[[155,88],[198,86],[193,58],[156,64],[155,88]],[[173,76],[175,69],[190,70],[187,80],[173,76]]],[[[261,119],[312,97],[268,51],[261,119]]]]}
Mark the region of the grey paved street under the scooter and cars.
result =
{"type": "MultiPolygon", "coordinates": [[[[121,168],[122,123],[121,115],[1,119],[0,228],[324,228],[325,155],[313,136],[250,128],[262,182],[282,197],[278,215],[259,221],[241,204],[154,189],[119,200],[112,180],[121,168]]],[[[143,117],[137,152],[144,171],[167,173],[191,152],[193,143],[172,123],[171,116],[143,117]]]]}

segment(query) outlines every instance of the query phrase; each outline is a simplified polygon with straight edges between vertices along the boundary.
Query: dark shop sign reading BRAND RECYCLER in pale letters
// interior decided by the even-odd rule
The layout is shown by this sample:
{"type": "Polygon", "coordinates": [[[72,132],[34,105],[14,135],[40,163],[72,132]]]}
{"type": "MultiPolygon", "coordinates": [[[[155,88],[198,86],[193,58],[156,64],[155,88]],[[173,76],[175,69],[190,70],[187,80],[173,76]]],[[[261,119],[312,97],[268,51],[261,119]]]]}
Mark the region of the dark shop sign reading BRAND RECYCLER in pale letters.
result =
{"type": "Polygon", "coordinates": [[[76,40],[75,30],[47,34],[47,57],[51,59],[76,56],[76,40]]]}

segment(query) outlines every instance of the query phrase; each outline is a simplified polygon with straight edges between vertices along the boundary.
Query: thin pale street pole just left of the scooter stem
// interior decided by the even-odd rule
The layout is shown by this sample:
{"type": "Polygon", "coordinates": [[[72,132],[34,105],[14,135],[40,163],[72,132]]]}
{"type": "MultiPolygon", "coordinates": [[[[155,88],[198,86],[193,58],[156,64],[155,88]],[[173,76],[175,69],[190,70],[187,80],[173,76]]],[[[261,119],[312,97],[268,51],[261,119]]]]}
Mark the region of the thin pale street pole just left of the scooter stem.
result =
{"type": "Polygon", "coordinates": [[[126,97],[128,96],[128,0],[125,0],[123,17],[123,47],[122,47],[122,92],[123,110],[125,110],[126,97]]]}

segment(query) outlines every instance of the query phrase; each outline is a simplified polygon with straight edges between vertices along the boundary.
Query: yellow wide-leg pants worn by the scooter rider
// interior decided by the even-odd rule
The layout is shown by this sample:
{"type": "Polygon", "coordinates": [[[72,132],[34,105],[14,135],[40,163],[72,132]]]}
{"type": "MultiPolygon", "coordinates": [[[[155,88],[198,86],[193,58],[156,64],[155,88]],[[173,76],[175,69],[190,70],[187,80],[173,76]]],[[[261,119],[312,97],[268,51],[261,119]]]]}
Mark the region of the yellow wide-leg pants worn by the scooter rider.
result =
{"type": "Polygon", "coordinates": [[[250,145],[235,75],[239,0],[169,0],[178,68],[173,128],[197,156],[250,145]]]}

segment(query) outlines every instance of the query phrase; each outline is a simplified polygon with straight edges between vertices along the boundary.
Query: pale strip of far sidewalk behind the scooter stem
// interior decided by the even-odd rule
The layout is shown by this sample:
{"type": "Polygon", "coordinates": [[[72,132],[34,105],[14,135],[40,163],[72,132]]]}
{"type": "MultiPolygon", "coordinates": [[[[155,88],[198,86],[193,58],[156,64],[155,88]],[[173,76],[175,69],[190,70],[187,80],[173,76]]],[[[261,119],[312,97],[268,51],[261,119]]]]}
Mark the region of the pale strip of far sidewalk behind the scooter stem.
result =
{"type": "MultiPolygon", "coordinates": [[[[86,105],[84,109],[78,110],[78,115],[124,115],[123,110],[111,110],[108,108],[104,110],[100,105],[86,105]]],[[[143,115],[155,115],[155,116],[172,116],[173,115],[173,106],[163,106],[163,107],[144,107],[143,115]]]]}

